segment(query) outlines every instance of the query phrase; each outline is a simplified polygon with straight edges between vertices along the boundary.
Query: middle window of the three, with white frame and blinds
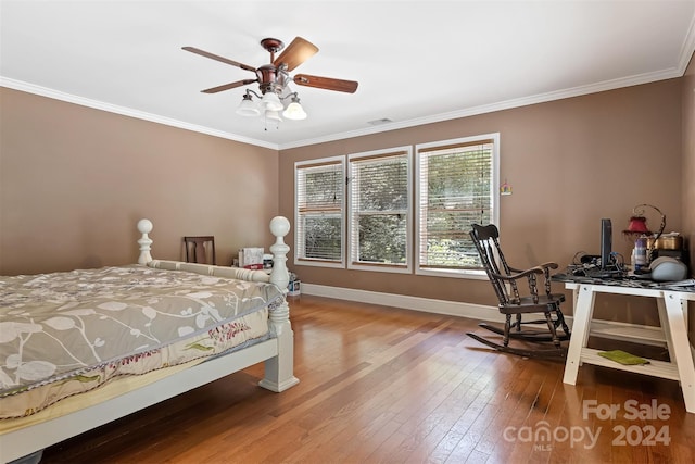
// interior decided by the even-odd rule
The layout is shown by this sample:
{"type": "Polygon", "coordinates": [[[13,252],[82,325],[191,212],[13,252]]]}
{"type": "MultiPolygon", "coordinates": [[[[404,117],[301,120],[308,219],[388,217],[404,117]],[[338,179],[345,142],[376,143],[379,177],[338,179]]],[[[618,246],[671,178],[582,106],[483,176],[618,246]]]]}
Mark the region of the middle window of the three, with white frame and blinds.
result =
{"type": "Polygon", "coordinates": [[[349,267],[410,271],[410,147],[349,156],[349,267]]]}

